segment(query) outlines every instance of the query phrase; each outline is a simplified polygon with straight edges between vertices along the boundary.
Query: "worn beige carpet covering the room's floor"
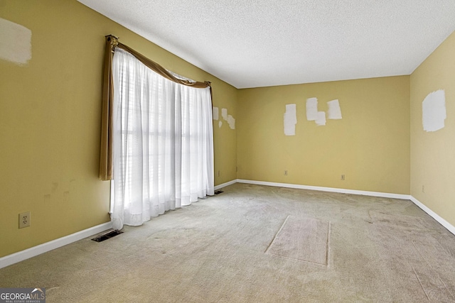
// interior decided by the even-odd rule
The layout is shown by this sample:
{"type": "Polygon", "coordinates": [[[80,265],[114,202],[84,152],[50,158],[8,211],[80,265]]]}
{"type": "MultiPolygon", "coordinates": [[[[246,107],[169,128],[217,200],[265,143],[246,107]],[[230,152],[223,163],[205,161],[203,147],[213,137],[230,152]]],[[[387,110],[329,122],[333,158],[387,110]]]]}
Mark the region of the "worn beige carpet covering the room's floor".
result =
{"type": "Polygon", "coordinates": [[[47,302],[455,302],[455,236],[410,201],[234,184],[0,270],[47,302]]]}

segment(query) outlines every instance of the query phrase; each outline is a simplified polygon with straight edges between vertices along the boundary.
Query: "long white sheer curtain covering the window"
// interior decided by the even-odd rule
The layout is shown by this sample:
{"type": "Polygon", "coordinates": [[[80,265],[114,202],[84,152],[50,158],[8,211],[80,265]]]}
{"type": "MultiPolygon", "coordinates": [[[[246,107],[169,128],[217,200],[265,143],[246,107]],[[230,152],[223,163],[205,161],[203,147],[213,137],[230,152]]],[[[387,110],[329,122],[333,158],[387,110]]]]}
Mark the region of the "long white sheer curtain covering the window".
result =
{"type": "Polygon", "coordinates": [[[210,88],[172,82],[116,48],[112,224],[137,226],[213,194],[210,88]]]}

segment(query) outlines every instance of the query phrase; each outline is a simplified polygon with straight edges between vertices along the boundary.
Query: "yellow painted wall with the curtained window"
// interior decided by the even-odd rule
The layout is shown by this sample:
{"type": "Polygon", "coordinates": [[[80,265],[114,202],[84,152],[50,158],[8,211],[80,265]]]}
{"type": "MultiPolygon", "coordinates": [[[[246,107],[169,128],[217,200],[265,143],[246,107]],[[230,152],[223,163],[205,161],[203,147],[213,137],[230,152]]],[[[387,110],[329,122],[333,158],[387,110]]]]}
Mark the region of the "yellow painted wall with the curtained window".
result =
{"type": "MultiPolygon", "coordinates": [[[[28,64],[0,59],[0,257],[109,221],[109,182],[98,180],[105,35],[212,82],[213,104],[237,114],[237,89],[75,0],[0,0],[0,18],[32,32],[28,64]],[[31,226],[18,229],[23,211],[31,226]]],[[[215,122],[220,184],[236,178],[236,131],[215,122]]]]}

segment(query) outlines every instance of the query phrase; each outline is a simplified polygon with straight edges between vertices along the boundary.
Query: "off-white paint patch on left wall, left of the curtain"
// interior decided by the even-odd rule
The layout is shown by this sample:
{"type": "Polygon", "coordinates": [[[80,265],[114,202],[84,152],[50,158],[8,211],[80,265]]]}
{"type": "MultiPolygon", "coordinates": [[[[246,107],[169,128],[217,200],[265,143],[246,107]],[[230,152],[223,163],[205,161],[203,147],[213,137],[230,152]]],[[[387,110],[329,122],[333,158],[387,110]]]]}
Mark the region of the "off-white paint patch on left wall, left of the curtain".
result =
{"type": "Polygon", "coordinates": [[[31,31],[0,18],[0,59],[25,65],[31,60],[31,31]]]}

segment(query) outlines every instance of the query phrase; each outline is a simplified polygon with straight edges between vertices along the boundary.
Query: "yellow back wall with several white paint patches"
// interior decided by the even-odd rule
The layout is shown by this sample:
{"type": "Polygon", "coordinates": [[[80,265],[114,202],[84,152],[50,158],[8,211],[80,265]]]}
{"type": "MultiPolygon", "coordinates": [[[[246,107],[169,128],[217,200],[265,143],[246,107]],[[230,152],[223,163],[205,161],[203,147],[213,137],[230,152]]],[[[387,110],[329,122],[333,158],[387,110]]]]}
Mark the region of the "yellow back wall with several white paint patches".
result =
{"type": "Polygon", "coordinates": [[[241,89],[237,113],[239,179],[410,193],[409,76],[241,89]],[[338,99],[343,119],[307,121],[310,97],[326,112],[338,99]],[[295,136],[284,136],[286,104],[295,136]]]}

